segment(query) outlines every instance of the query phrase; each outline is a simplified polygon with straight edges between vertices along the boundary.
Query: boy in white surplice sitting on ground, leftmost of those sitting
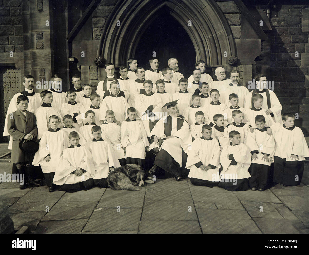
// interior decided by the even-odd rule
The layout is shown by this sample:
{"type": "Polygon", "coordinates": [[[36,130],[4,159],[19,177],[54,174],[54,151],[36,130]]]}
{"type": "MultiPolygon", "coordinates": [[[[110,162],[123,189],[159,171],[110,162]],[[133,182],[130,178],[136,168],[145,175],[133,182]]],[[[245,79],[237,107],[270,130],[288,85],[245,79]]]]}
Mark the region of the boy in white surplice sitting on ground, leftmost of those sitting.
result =
{"type": "Polygon", "coordinates": [[[90,151],[79,143],[79,135],[69,134],[70,147],[63,150],[53,184],[66,192],[88,190],[94,186],[95,167],[90,151]]]}

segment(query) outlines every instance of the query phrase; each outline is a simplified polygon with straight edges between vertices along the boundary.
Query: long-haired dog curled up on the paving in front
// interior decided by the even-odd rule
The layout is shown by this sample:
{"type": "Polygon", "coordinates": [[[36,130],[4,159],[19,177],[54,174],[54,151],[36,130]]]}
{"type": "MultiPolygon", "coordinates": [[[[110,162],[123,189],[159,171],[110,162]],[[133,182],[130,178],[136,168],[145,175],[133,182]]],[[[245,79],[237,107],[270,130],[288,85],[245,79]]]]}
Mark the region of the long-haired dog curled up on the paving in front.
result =
{"type": "Polygon", "coordinates": [[[140,190],[144,183],[155,183],[144,169],[136,164],[123,165],[108,173],[107,183],[113,190],[140,190]]]}

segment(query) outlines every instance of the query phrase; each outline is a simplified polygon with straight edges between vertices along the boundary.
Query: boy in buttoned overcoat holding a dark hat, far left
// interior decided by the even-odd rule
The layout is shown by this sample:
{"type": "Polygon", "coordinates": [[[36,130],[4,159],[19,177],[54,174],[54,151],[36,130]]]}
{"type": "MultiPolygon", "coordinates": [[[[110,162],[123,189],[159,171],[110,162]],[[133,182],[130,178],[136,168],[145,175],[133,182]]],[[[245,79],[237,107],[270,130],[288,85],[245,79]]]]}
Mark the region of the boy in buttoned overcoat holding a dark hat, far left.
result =
{"type": "Polygon", "coordinates": [[[11,117],[8,118],[8,123],[6,130],[13,138],[12,141],[12,154],[11,162],[15,164],[19,176],[25,176],[20,178],[20,189],[26,188],[26,183],[30,187],[39,187],[40,183],[37,183],[32,178],[32,169],[30,169],[29,164],[32,162],[32,155],[25,153],[19,147],[21,141],[28,142],[31,140],[36,140],[37,127],[36,127],[36,116],[34,113],[27,111],[28,108],[28,97],[25,95],[20,95],[17,97],[17,110],[11,113],[11,117]],[[27,171],[25,171],[27,169],[27,171]],[[28,181],[26,182],[25,178],[28,181]]]}

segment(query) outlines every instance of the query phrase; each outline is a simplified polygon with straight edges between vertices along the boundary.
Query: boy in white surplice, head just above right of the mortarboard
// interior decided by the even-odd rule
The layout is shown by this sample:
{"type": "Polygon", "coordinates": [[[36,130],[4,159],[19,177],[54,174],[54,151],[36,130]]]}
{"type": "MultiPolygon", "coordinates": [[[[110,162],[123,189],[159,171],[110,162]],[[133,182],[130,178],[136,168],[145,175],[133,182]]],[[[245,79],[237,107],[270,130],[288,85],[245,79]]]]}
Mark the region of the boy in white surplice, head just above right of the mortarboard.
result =
{"type": "Polygon", "coordinates": [[[187,90],[187,87],[188,87],[188,80],[187,79],[181,78],[179,80],[179,86],[178,87],[179,87],[180,90],[172,95],[172,100],[173,101],[179,100],[177,102],[178,110],[179,110],[180,114],[183,114],[184,109],[189,107],[192,103],[191,102],[192,93],[190,93],[187,90]]]}

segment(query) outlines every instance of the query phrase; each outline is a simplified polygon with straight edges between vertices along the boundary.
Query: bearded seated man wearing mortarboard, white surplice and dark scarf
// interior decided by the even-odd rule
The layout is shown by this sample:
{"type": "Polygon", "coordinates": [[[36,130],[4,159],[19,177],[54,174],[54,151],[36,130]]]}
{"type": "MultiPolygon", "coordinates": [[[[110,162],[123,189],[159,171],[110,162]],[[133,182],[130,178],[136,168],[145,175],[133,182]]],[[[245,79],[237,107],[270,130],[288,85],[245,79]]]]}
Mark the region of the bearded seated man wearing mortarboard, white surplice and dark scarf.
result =
{"type": "Polygon", "coordinates": [[[163,105],[167,107],[169,115],[161,118],[150,132],[150,138],[153,138],[154,142],[150,144],[149,151],[159,148],[162,140],[163,143],[155,157],[154,166],[148,173],[154,175],[159,167],[180,181],[181,178],[188,178],[188,169],[185,166],[192,138],[188,122],[179,113],[177,101],[163,105]]]}

